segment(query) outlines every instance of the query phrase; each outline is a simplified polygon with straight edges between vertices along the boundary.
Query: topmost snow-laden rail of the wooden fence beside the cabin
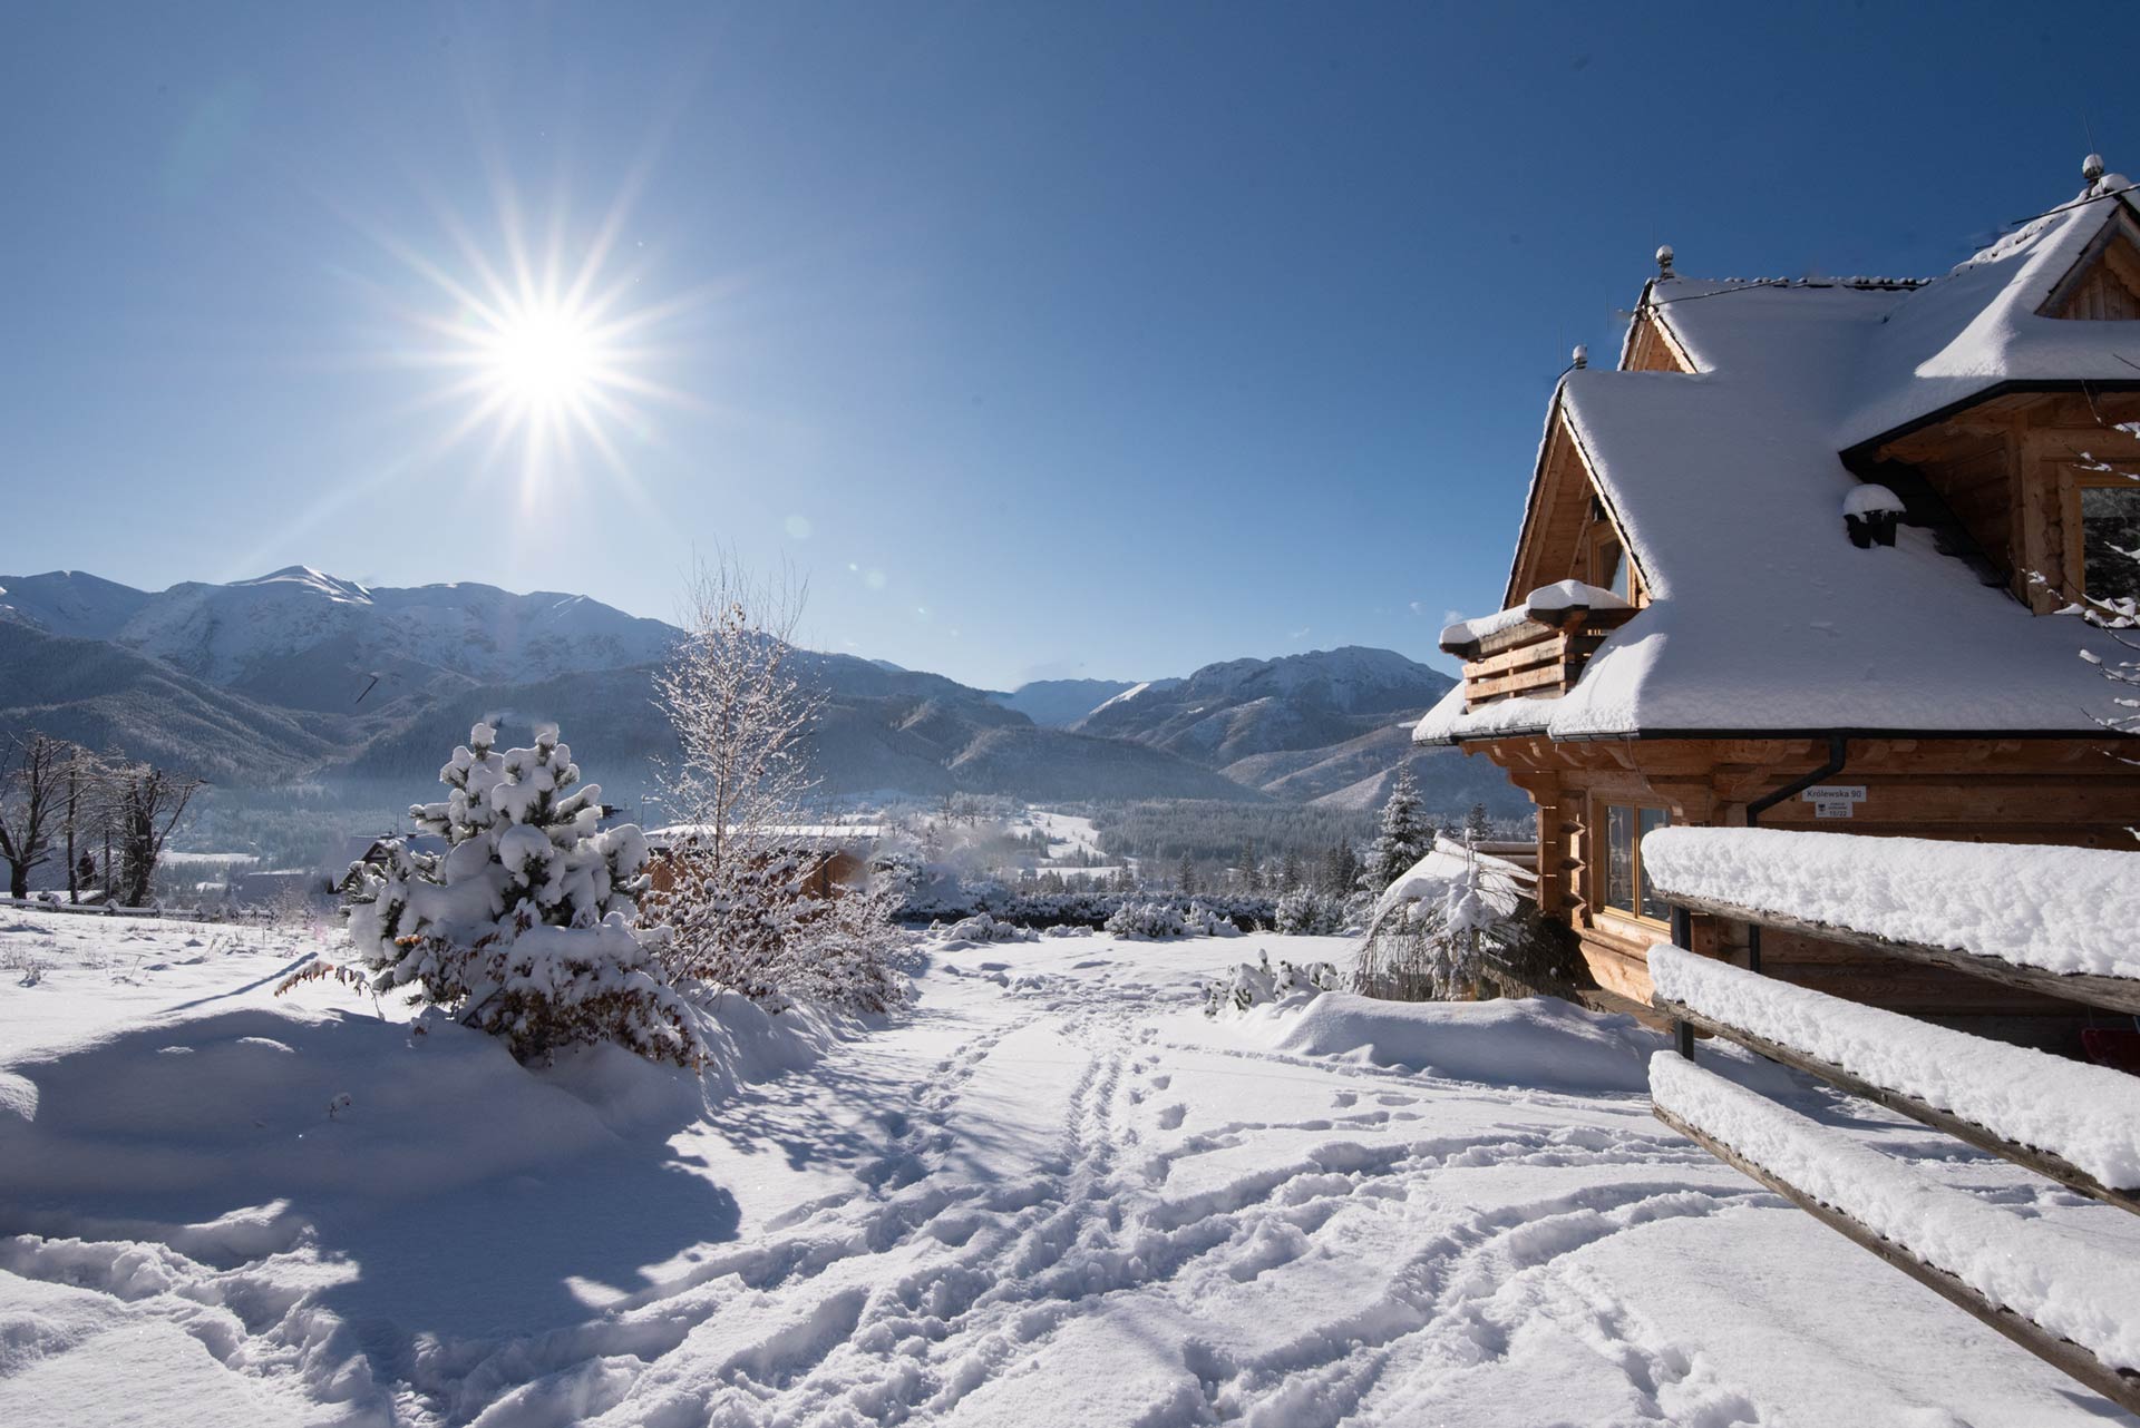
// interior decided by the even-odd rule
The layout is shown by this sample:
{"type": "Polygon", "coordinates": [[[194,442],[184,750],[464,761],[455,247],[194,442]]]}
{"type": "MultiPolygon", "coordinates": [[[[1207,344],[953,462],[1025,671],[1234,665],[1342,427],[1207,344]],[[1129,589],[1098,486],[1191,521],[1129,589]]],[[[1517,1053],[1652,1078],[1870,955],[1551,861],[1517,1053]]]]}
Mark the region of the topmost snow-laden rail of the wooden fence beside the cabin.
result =
{"type": "Polygon", "coordinates": [[[1661,827],[1658,896],[2009,988],[2140,1013],[2140,855],[1768,827],[1661,827]]]}

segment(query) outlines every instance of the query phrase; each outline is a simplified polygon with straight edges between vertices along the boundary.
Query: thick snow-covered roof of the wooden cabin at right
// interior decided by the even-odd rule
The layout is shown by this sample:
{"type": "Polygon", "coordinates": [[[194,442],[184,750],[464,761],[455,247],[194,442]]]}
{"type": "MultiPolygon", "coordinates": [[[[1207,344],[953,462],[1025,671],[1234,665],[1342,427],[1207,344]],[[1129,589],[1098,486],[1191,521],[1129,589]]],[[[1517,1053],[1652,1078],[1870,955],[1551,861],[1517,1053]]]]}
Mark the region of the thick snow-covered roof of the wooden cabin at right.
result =
{"type": "MultiPolygon", "coordinates": [[[[1920,528],[1858,549],[1840,451],[2001,381],[2140,378],[2131,323],[2035,316],[2131,186],[2054,212],[1922,286],[1658,280],[1646,301],[1699,368],[1573,370],[1566,419],[1652,603],[1562,697],[1464,712],[1421,742],[1547,733],[2099,733],[2108,635],[1986,588],[1920,528]]],[[[1545,479],[1541,462],[1539,481],[1545,479]]],[[[1492,616],[1487,620],[1494,620],[1492,616]]]]}

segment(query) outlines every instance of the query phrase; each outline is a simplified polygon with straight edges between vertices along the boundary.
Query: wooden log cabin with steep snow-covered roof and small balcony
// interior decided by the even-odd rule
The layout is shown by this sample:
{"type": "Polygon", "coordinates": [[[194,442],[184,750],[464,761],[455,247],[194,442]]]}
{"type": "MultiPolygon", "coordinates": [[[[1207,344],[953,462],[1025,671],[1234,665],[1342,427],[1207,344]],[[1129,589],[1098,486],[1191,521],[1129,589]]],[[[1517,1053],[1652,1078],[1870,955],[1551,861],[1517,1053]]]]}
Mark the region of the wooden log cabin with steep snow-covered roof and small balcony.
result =
{"type": "MultiPolygon", "coordinates": [[[[1930,280],[1697,280],[1558,383],[1504,609],[1415,731],[1539,810],[1539,902],[1648,1005],[1663,823],[2131,847],[2131,708],[2076,618],[2140,599],[2140,220],[2086,190],[1930,280]],[[2061,614],[2067,611],[2067,614],[2061,614]]],[[[2129,607],[2127,607],[2129,609],[2129,607]]],[[[1697,949],[1748,962],[1746,928],[1697,949]]],[[[2044,1045],[2078,1009],[1770,932],[1759,968],[2044,1045]]]]}

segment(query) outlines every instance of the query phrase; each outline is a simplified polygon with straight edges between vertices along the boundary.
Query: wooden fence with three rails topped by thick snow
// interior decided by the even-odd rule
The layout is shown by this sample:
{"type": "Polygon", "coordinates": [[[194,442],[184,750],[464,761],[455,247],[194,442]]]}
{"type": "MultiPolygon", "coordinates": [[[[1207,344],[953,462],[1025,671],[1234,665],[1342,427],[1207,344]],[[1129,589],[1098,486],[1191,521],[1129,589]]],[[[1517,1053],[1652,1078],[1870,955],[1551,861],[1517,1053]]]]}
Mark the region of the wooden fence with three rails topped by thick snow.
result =
{"type": "Polygon", "coordinates": [[[1693,913],[1872,947],[2003,985],[2140,1011],[2140,853],[1658,829],[1644,872],[1671,904],[1650,951],[1678,1052],[1650,1062],[1658,1120],[2112,1402],[2140,1413],[2140,1263],[1928,1180],[1695,1067],[1693,1033],[2140,1212],[2140,1080],[1789,985],[1688,951],[1693,913]]]}

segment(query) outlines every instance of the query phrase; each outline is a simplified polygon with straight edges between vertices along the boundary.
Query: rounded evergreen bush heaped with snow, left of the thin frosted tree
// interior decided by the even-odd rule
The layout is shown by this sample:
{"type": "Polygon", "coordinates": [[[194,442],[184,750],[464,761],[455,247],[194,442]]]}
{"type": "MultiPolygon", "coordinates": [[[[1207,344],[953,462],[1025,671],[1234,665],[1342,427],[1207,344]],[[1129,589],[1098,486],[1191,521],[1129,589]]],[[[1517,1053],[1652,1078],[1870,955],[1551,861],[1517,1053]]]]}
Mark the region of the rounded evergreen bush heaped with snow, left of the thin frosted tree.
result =
{"type": "Polygon", "coordinates": [[[385,844],[385,866],[351,868],[349,941],[364,968],[315,964],[285,981],[338,975],[374,994],[407,990],[464,1026],[503,1037],[520,1060],[614,1041],[640,1056],[698,1065],[704,1043],[636,926],[646,838],[599,829],[601,787],[556,729],[533,748],[492,746],[475,725],[439,770],[443,804],[409,817],[445,853],[385,844]]]}

